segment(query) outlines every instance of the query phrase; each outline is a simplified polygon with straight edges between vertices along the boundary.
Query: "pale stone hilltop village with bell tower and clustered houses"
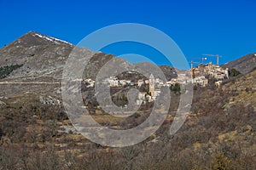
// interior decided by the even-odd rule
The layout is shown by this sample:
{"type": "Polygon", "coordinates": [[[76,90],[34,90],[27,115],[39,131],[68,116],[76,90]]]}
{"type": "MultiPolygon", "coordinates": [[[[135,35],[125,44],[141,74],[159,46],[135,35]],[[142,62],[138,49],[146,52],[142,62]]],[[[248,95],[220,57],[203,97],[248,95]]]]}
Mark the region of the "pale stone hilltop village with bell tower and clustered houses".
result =
{"type": "MultiPolygon", "coordinates": [[[[155,78],[151,74],[148,79],[138,79],[137,81],[131,81],[126,79],[119,79],[118,77],[109,77],[105,80],[110,88],[124,88],[127,86],[141,88],[144,87],[144,91],[140,91],[137,96],[137,105],[141,105],[146,101],[154,101],[157,96],[160,95],[160,88],[175,87],[179,85],[185,85],[193,83],[195,86],[206,87],[209,80],[212,79],[215,82],[215,86],[219,87],[224,79],[229,78],[229,69],[222,68],[220,65],[213,65],[212,62],[206,65],[198,65],[195,68],[191,67],[190,71],[183,71],[178,73],[177,77],[172,78],[167,82],[163,82],[160,78],[155,78]]],[[[91,78],[84,79],[82,81],[86,84],[86,88],[94,88],[95,80],[91,78]]]]}

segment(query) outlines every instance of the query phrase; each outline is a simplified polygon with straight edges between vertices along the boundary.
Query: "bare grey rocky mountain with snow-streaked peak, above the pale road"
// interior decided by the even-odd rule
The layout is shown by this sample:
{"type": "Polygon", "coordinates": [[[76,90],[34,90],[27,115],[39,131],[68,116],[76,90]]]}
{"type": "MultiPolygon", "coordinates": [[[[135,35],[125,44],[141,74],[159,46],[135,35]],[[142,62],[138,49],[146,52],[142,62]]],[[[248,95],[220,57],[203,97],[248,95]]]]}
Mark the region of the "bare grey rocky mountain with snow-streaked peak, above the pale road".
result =
{"type": "Polygon", "coordinates": [[[73,44],[34,31],[0,49],[0,65],[22,65],[9,78],[49,75],[60,79],[58,71],[65,64],[73,44]]]}

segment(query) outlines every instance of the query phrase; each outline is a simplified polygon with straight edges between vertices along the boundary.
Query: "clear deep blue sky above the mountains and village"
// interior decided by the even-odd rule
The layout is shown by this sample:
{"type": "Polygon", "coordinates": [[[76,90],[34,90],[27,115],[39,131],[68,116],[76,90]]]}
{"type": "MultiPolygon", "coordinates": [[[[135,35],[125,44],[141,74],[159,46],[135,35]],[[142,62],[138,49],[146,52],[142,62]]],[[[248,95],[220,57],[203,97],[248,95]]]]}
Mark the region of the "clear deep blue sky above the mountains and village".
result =
{"type": "MultiPolygon", "coordinates": [[[[10,1],[0,0],[0,47],[27,31],[38,31],[77,44],[92,31],[118,23],[141,23],[164,31],[188,60],[221,54],[220,64],[256,52],[254,0],[193,1],[10,1]]],[[[134,45],[134,44],[133,44],[134,45]]],[[[142,54],[158,65],[166,59],[145,48],[124,44],[104,48],[111,54],[142,54]],[[123,50],[120,50],[120,49],[123,50]],[[125,49],[125,50],[124,50],[125,49]]],[[[216,62],[215,58],[207,61],[216,62]]]]}

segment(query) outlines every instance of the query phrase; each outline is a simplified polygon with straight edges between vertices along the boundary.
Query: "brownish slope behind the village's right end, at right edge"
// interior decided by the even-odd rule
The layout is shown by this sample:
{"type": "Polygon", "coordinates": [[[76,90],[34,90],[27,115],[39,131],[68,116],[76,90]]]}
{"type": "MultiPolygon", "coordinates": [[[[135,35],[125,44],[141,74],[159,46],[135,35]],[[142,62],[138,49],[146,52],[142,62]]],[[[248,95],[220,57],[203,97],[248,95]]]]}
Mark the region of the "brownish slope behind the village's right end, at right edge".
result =
{"type": "Polygon", "coordinates": [[[247,54],[240,59],[236,59],[230,61],[222,65],[224,68],[235,68],[237,71],[240,71],[242,74],[247,74],[256,67],[256,53],[254,54],[247,54]]]}

